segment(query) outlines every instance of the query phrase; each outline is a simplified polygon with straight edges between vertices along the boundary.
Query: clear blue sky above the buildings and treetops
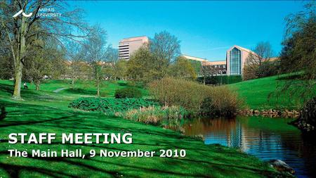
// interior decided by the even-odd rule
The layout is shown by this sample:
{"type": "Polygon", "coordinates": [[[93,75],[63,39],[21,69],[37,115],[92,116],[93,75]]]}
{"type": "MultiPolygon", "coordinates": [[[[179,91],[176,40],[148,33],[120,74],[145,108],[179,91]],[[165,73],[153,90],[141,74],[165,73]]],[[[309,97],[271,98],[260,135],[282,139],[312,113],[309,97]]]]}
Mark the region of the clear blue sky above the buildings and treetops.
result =
{"type": "Polygon", "coordinates": [[[154,37],[166,30],[178,37],[181,52],[209,61],[225,60],[235,44],[254,49],[268,41],[282,49],[284,18],[303,10],[303,1],[77,1],[88,23],[107,30],[117,48],[126,37],[154,37]]]}

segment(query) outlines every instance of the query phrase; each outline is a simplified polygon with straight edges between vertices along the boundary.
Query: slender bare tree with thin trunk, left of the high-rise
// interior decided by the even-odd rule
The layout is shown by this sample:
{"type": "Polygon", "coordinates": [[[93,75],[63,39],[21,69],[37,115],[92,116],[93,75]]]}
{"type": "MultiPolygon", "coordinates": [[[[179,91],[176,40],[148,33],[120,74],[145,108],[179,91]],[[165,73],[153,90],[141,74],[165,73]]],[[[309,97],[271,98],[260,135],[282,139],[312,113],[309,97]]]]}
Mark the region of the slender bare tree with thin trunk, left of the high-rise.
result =
{"type": "Polygon", "coordinates": [[[97,96],[100,96],[100,82],[103,79],[103,67],[107,60],[106,35],[102,27],[95,25],[83,44],[84,58],[91,65],[93,76],[96,80],[97,96]]]}

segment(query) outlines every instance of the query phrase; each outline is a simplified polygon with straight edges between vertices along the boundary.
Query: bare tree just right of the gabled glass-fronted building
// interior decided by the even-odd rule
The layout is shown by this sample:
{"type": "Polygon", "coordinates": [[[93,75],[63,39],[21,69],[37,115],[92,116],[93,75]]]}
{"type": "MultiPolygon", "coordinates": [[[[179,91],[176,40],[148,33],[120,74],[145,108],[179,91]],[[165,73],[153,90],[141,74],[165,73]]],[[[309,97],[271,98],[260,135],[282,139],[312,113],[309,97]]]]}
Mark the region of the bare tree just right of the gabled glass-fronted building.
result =
{"type": "Polygon", "coordinates": [[[270,62],[270,58],[273,56],[271,44],[269,42],[259,42],[246,58],[246,65],[244,67],[243,79],[251,80],[254,78],[265,77],[262,72],[258,72],[265,63],[270,62]]]}

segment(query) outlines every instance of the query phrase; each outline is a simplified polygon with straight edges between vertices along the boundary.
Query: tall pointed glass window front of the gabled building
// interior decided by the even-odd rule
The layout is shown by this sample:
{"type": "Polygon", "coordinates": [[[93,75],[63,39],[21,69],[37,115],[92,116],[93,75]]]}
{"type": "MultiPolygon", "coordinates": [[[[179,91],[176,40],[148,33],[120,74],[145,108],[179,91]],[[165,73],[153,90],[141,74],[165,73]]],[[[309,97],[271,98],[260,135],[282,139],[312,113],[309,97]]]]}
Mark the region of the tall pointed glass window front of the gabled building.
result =
{"type": "Polygon", "coordinates": [[[230,51],[230,75],[242,75],[242,53],[237,48],[230,51]]]}

